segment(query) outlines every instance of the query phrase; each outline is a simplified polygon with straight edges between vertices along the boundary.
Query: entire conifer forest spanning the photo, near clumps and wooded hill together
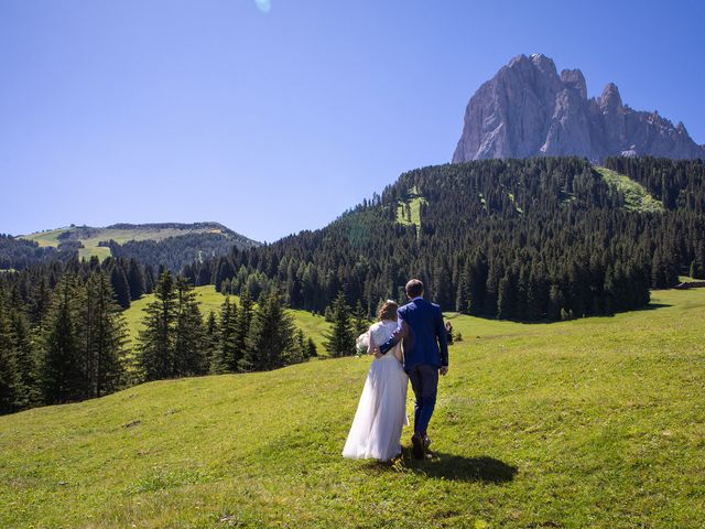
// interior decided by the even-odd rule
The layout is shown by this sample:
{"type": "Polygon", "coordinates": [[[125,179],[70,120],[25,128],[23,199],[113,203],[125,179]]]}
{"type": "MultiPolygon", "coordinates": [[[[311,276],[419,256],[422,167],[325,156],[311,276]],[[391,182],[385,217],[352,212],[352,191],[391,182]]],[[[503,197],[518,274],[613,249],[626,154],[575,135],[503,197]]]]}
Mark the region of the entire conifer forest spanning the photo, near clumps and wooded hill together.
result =
{"type": "Polygon", "coordinates": [[[303,361],[315,347],[286,306],[328,313],[339,330],[330,354],[352,354],[361,322],[380,301],[403,301],[411,277],[444,311],[525,322],[639,309],[679,276],[705,279],[705,163],[605,165],[660,208],[628,204],[585,160],[538,158],[414,170],[323,229],[199,255],[181,274],[150,242],[100,262],[2,237],[0,412],[303,361]],[[202,314],[202,284],[239,302],[202,314]],[[121,311],[149,293],[144,331],[127,350],[121,311]]]}

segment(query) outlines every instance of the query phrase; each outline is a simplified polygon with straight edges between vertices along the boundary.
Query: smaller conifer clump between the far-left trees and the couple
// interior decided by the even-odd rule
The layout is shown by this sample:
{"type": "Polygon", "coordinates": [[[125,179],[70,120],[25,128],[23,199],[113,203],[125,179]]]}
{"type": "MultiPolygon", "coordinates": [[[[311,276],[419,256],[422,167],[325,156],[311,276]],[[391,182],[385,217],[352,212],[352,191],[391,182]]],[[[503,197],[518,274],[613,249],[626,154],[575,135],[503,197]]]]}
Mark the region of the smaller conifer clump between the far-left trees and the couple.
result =
{"type": "Polygon", "coordinates": [[[296,328],[272,292],[254,305],[225,299],[219,314],[204,322],[193,287],[167,270],[144,310],[144,330],[137,347],[137,366],[144,380],[205,374],[261,371],[317,356],[316,346],[296,328]]]}

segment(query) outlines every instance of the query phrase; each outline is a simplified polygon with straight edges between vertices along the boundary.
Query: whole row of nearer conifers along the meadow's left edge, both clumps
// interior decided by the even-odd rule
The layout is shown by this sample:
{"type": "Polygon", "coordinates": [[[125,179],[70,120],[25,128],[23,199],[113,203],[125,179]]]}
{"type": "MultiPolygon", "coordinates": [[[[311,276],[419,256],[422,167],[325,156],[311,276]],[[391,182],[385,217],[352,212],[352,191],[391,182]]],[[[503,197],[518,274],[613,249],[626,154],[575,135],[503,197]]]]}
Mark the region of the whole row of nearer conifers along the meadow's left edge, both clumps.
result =
{"type": "Polygon", "coordinates": [[[239,304],[226,298],[219,314],[204,320],[192,284],[169,270],[153,285],[131,350],[115,278],[128,301],[138,292],[132,285],[144,285],[130,281],[141,278],[131,260],[119,262],[73,260],[0,277],[0,413],[149,380],[274,369],[317,355],[276,293],[257,305],[247,295],[239,304]]]}

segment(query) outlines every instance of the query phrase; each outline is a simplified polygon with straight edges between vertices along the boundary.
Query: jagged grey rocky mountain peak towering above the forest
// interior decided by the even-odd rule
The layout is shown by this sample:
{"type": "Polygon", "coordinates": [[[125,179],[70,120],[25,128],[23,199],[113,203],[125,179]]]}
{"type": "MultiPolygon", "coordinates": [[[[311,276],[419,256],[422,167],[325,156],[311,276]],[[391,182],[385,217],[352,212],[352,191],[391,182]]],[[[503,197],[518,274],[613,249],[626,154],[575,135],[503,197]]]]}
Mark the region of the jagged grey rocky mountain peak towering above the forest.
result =
{"type": "Polygon", "coordinates": [[[453,162],[487,158],[612,155],[705,159],[683,123],[623,105],[612,83],[587,98],[579,69],[556,72],[545,55],[519,55],[470,98],[453,162]]]}

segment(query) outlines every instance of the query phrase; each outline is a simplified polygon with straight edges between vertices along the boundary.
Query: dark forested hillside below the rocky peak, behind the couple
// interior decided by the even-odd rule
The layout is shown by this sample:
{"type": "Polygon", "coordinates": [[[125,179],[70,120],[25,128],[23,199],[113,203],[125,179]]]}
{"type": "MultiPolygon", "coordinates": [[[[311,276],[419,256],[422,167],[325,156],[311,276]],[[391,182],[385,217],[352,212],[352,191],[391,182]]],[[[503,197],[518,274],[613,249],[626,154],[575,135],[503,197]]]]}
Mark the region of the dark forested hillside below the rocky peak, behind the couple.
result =
{"type": "Polygon", "coordinates": [[[684,186],[685,198],[663,198],[671,207],[662,214],[630,212],[619,190],[576,158],[431,166],[403,174],[323,229],[232,249],[184,273],[254,300],[281,288],[288,304],[318,313],[343,291],[348,304],[359,300],[372,315],[383,299],[404,300],[410,277],[422,279],[444,310],[487,317],[552,321],[631,310],[679,274],[704,277],[705,184],[702,162],[625,163],[612,169],[644,183],[655,176],[633,168],[674,172],[670,193],[684,186]],[[420,227],[398,222],[412,190],[425,198],[420,227]]]}

